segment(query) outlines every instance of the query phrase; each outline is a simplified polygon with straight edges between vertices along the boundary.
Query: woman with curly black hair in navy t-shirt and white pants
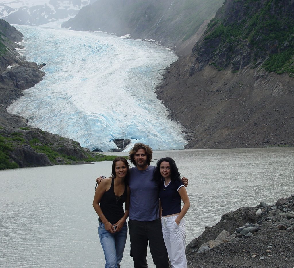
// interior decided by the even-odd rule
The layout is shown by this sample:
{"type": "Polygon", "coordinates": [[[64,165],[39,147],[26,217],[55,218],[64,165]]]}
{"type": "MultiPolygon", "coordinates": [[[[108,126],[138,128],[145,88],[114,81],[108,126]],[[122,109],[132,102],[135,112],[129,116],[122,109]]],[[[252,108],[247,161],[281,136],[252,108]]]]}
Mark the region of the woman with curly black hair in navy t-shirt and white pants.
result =
{"type": "Polygon", "coordinates": [[[175,161],[158,160],[154,179],[158,182],[162,207],[161,226],[164,243],[173,268],[186,268],[186,215],[190,201],[175,161]],[[181,202],[184,205],[181,208],[181,202]]]}

